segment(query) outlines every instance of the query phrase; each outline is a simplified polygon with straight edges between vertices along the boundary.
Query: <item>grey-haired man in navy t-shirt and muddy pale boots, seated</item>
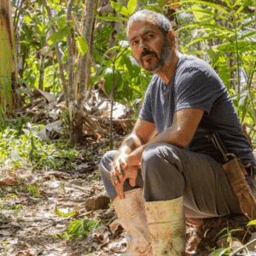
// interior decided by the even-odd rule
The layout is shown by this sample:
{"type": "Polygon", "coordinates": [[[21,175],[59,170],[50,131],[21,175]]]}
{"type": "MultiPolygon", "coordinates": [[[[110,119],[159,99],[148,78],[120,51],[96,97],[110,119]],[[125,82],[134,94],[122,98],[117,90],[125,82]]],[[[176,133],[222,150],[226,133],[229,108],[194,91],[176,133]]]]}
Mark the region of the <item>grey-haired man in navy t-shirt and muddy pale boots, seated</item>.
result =
{"type": "MultiPolygon", "coordinates": [[[[206,135],[217,132],[243,165],[255,162],[253,149],[218,74],[177,52],[163,15],[135,13],[127,38],[138,64],[154,77],[131,135],[118,152],[104,155],[100,173],[126,231],[124,255],[184,255],[185,216],[241,212],[222,155],[206,135]]],[[[253,190],[252,177],[247,183],[253,190]]]]}

